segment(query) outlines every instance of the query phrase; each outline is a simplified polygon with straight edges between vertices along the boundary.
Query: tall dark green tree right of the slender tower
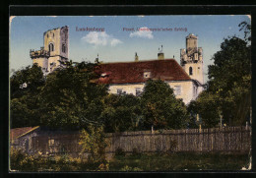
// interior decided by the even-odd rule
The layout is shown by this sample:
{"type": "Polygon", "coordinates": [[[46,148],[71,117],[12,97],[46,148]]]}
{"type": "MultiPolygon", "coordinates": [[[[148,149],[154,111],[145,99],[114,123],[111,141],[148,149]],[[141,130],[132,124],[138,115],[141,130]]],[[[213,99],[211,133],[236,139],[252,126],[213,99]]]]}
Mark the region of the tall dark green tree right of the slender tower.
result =
{"type": "Polygon", "coordinates": [[[250,46],[235,36],[224,39],[213,60],[214,65],[209,66],[209,92],[219,97],[225,123],[245,124],[251,105],[250,46]]]}

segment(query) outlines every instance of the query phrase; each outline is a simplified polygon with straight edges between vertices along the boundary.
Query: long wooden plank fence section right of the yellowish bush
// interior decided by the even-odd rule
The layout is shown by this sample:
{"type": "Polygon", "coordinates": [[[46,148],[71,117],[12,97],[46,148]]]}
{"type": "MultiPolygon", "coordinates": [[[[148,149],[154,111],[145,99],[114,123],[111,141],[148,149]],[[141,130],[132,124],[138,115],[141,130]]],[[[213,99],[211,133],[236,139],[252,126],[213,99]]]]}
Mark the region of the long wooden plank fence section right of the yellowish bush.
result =
{"type": "Polygon", "coordinates": [[[110,147],[107,152],[122,148],[131,152],[158,151],[249,151],[251,136],[249,127],[214,129],[164,130],[107,134],[110,147]]]}

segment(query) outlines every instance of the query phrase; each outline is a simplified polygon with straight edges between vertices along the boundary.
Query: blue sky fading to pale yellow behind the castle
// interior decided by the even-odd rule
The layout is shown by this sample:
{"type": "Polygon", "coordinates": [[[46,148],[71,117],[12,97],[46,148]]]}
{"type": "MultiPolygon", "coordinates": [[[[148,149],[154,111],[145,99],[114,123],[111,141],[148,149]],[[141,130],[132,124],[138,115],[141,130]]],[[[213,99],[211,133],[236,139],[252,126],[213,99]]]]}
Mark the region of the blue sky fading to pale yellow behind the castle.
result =
{"type": "Polygon", "coordinates": [[[251,24],[246,15],[10,17],[10,71],[32,65],[30,49],[43,46],[44,31],[68,26],[69,59],[75,62],[95,62],[97,54],[102,62],[134,61],[135,52],[139,60],[157,59],[162,45],[164,58],[174,56],[179,63],[185,37],[194,33],[203,48],[207,79],[224,38],[244,37],[238,27],[243,21],[251,24]]]}

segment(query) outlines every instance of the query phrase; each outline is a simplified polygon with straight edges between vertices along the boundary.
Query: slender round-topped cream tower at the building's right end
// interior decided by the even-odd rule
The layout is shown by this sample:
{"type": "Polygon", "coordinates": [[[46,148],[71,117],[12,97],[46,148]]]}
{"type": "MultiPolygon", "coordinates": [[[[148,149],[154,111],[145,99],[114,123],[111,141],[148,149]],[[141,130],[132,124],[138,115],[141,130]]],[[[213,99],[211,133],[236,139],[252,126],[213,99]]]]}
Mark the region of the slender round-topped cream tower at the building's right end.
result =
{"type": "Polygon", "coordinates": [[[198,37],[192,33],[186,37],[186,49],[180,49],[180,65],[191,79],[204,84],[203,49],[197,45],[198,37]]]}

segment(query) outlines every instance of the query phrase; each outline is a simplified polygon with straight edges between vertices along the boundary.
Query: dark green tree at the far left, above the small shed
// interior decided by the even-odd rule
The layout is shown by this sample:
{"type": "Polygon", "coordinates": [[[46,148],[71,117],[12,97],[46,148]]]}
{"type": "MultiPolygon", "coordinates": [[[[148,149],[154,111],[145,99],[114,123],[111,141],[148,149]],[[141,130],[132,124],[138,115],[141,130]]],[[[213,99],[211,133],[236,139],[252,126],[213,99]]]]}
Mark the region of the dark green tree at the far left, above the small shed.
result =
{"type": "Polygon", "coordinates": [[[10,78],[10,119],[11,127],[39,125],[39,88],[44,85],[40,67],[33,65],[16,71],[10,78]]]}

